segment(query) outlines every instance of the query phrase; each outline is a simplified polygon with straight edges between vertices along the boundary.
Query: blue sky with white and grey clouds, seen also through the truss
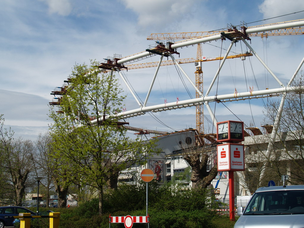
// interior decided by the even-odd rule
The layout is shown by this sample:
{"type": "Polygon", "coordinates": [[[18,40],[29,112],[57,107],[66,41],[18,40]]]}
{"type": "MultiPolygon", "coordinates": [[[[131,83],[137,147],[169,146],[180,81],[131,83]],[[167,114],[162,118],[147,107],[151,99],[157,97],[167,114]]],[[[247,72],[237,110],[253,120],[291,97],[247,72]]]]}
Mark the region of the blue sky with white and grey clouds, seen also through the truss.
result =
{"type": "MultiPolygon", "coordinates": [[[[91,59],[102,61],[114,54],[125,57],[145,51],[149,45],[155,44],[153,40],[147,40],[150,33],[211,31],[243,22],[248,23],[247,26],[257,26],[303,19],[304,12],[299,12],[302,10],[304,2],[301,0],[2,0],[0,114],[5,119],[4,127],[11,127],[16,137],[36,140],[38,134],[45,133],[51,124],[47,116],[48,104],[52,101],[50,92],[63,85],[75,64],[89,64],[91,59]]],[[[254,37],[250,43],[286,84],[303,58],[303,39],[302,36],[269,37],[267,40],[254,37]]],[[[203,44],[203,56],[224,54],[229,44],[227,41],[203,44]]],[[[244,50],[245,45],[239,43],[232,49],[235,53],[244,50]]],[[[177,51],[180,58],[196,57],[196,46],[177,51]]],[[[250,85],[256,90],[277,88],[264,68],[253,57],[250,59],[229,60],[220,73],[217,90],[212,90],[210,95],[230,94],[235,89],[247,91],[250,85]]],[[[142,61],[158,60],[159,57],[150,57],[142,61]]],[[[182,67],[195,81],[194,64],[182,67]]],[[[219,61],[203,63],[204,91],[218,67],[219,61]]],[[[124,72],[142,100],[154,72],[155,68],[124,72]]],[[[190,95],[175,67],[162,67],[148,105],[195,97],[191,85],[185,84],[190,95]]],[[[126,88],[125,92],[126,109],[138,108],[126,88]]],[[[227,107],[223,104],[210,106],[218,114],[219,121],[242,120],[246,126],[260,128],[264,124],[264,105],[268,102],[268,99],[263,100],[231,102],[225,104],[227,107]]],[[[208,112],[204,112],[205,132],[215,133],[208,121],[208,112]]],[[[157,112],[153,117],[146,114],[126,121],[130,126],[150,130],[195,128],[195,108],[157,112]]]]}

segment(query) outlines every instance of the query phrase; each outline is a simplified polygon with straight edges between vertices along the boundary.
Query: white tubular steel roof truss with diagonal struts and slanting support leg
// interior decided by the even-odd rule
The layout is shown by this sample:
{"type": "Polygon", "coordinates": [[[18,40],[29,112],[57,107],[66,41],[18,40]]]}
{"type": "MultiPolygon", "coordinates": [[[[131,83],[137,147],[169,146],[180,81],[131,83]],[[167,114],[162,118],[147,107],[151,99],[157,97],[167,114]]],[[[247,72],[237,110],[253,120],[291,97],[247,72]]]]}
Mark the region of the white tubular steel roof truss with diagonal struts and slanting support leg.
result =
{"type": "MultiPolygon", "coordinates": [[[[257,26],[255,28],[246,29],[246,34],[261,33],[261,32],[273,31],[273,30],[278,30],[278,29],[290,29],[290,28],[301,27],[301,26],[304,26],[304,20],[300,20],[300,21],[297,21],[297,22],[286,22],[286,23],[280,22],[276,25],[257,26]]],[[[244,31],[239,31],[239,32],[243,33],[244,31]]],[[[222,38],[223,38],[223,35],[214,34],[214,35],[210,35],[210,36],[206,36],[206,37],[201,37],[201,38],[196,38],[196,39],[192,39],[192,40],[177,42],[177,43],[172,44],[171,48],[176,49],[176,48],[181,48],[181,47],[187,47],[187,46],[194,45],[194,44],[206,43],[206,42],[211,42],[211,41],[214,41],[214,40],[221,40],[222,38]]],[[[280,118],[281,118],[286,94],[296,92],[297,90],[299,90],[298,87],[292,87],[291,83],[294,80],[295,76],[299,73],[299,70],[304,63],[304,58],[302,59],[302,61],[300,61],[299,66],[295,70],[295,73],[292,75],[288,84],[284,85],[279,80],[279,78],[271,71],[271,69],[267,66],[267,64],[265,64],[265,62],[259,57],[259,55],[256,53],[256,51],[247,43],[247,41],[243,37],[239,37],[239,40],[242,41],[250,49],[252,54],[254,54],[254,56],[265,67],[265,69],[278,82],[278,88],[257,90],[257,91],[250,91],[250,92],[240,92],[240,93],[235,92],[235,93],[232,93],[232,94],[209,96],[209,93],[210,93],[216,79],[218,78],[219,72],[221,71],[221,69],[223,67],[223,64],[225,63],[225,60],[226,60],[228,54],[230,53],[230,50],[231,50],[233,44],[236,42],[236,38],[233,38],[231,40],[230,46],[227,49],[226,54],[225,54],[222,62],[219,65],[219,68],[218,68],[211,84],[209,85],[209,88],[208,88],[205,96],[202,94],[201,91],[199,91],[199,89],[196,87],[195,83],[193,83],[191,81],[191,79],[188,77],[187,73],[182,69],[181,65],[178,64],[178,62],[174,59],[173,55],[170,52],[164,52],[164,53],[161,54],[159,63],[157,65],[157,69],[155,71],[154,77],[152,79],[152,82],[150,84],[150,88],[147,92],[147,96],[146,96],[145,101],[143,102],[143,104],[136,97],[136,93],[133,91],[132,86],[130,86],[130,84],[126,81],[125,77],[123,76],[123,74],[119,70],[119,68],[118,67],[112,68],[111,75],[113,74],[113,71],[117,71],[119,73],[120,77],[122,78],[122,80],[126,84],[127,88],[130,90],[131,94],[133,95],[133,98],[135,99],[136,103],[139,105],[139,108],[137,108],[137,109],[116,113],[115,116],[118,119],[124,119],[124,118],[128,118],[128,117],[144,115],[146,112],[161,112],[161,111],[167,111],[167,110],[172,110],[172,109],[181,109],[181,108],[186,108],[186,107],[192,107],[192,106],[205,104],[210,116],[212,117],[213,124],[214,124],[214,126],[216,126],[216,123],[218,121],[216,120],[216,116],[214,115],[214,113],[212,112],[212,109],[209,106],[209,102],[231,102],[231,101],[238,101],[238,100],[245,100],[245,99],[266,98],[266,97],[273,97],[273,96],[281,96],[282,95],[282,99],[281,99],[281,103],[280,103],[278,113],[277,113],[277,116],[276,116],[276,119],[275,119],[273,131],[271,133],[271,142],[268,144],[268,149],[266,151],[267,157],[269,159],[271,159],[272,145],[275,142],[275,139],[276,139],[276,136],[277,136],[278,125],[279,125],[279,122],[280,122],[280,118]],[[198,92],[199,98],[181,100],[181,101],[178,101],[178,102],[170,102],[170,103],[159,104],[159,105],[146,106],[147,102],[148,102],[148,99],[149,99],[149,96],[150,96],[150,92],[153,88],[154,81],[156,79],[156,76],[157,76],[157,73],[158,73],[159,68],[161,66],[161,62],[163,60],[164,55],[170,56],[171,59],[173,61],[175,61],[177,67],[184,74],[184,76],[188,79],[188,81],[195,88],[195,90],[198,92]]],[[[139,53],[139,54],[135,54],[135,55],[120,59],[120,60],[117,61],[117,64],[124,64],[126,62],[130,62],[130,61],[133,61],[133,60],[138,60],[138,59],[141,59],[143,57],[147,57],[147,56],[152,55],[152,54],[153,53],[151,53],[151,52],[145,51],[145,52],[142,52],[142,53],[139,53]]],[[[105,70],[104,69],[98,69],[98,70],[92,71],[88,74],[102,73],[103,71],[105,71],[105,70]]],[[[105,119],[108,119],[108,118],[110,118],[110,116],[105,117],[105,119]]],[[[75,120],[77,121],[77,119],[75,119],[75,120]]],[[[99,119],[99,121],[103,121],[103,119],[99,119]]],[[[96,122],[97,122],[97,119],[92,120],[92,123],[96,123],[96,122]]],[[[263,180],[263,178],[264,178],[265,170],[266,170],[266,167],[263,166],[263,168],[261,170],[260,181],[263,180]]]]}

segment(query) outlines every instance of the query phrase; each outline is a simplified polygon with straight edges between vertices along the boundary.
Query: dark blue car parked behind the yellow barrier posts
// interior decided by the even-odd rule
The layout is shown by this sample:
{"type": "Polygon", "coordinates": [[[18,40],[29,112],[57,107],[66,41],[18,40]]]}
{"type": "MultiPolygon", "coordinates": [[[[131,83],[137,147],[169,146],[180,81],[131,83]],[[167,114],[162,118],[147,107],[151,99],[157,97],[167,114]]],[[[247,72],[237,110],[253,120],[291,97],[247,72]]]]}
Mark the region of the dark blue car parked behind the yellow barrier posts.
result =
{"type": "Polygon", "coordinates": [[[5,216],[18,216],[19,213],[31,213],[31,215],[36,215],[35,212],[18,206],[7,206],[0,207],[0,228],[4,228],[5,226],[14,226],[13,221],[14,218],[5,218],[5,216]]]}

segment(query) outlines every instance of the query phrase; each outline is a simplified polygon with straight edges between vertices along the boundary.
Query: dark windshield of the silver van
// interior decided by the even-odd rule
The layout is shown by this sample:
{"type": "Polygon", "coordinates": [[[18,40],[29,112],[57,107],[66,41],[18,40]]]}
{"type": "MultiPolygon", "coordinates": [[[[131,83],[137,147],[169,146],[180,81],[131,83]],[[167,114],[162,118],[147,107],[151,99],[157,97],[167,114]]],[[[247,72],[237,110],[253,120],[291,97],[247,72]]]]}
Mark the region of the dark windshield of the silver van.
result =
{"type": "Polygon", "coordinates": [[[255,193],[243,215],[304,214],[303,190],[255,193]]]}

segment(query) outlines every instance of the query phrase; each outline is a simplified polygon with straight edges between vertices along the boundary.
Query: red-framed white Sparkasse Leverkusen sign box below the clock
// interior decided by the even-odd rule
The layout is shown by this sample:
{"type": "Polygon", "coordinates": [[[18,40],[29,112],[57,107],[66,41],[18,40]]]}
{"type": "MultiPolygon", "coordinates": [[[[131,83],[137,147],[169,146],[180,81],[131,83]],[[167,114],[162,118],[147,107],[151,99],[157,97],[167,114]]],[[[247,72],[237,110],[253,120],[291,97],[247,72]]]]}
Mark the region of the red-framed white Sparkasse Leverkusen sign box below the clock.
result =
{"type": "Polygon", "coordinates": [[[244,171],[244,144],[226,143],[217,145],[218,171],[244,171]]]}

